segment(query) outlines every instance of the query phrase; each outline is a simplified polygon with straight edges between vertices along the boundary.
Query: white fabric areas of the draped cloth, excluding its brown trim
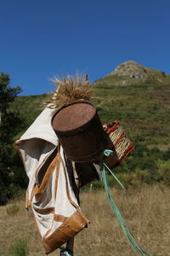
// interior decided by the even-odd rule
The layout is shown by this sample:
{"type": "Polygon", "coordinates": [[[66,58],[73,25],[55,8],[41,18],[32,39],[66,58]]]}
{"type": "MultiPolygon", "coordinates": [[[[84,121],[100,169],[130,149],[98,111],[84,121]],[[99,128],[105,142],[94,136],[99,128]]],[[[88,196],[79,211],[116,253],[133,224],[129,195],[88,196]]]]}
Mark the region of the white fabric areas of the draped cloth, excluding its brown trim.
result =
{"type": "Polygon", "coordinates": [[[37,183],[37,175],[42,166],[46,163],[48,157],[53,154],[54,149],[58,147],[58,138],[51,125],[53,109],[45,108],[37,117],[28,130],[16,141],[15,146],[20,151],[22,161],[25,166],[26,174],[29,177],[29,185],[27,189],[27,207],[31,202],[37,227],[43,237],[48,230],[48,236],[59,227],[60,222],[53,222],[54,214],[70,217],[77,211],[71,201],[78,206],[76,195],[71,188],[68,173],[65,172],[65,156],[63,148],[60,146],[59,154],[63,164],[59,165],[59,169],[55,166],[54,171],[48,179],[48,184],[39,201],[33,191],[37,183]],[[65,175],[66,173],[66,175],[65,175]],[[58,186],[55,189],[56,178],[58,178],[58,186]],[[69,195],[66,193],[66,184],[68,184],[69,195]],[[41,214],[38,211],[53,208],[53,213],[41,214]]]}

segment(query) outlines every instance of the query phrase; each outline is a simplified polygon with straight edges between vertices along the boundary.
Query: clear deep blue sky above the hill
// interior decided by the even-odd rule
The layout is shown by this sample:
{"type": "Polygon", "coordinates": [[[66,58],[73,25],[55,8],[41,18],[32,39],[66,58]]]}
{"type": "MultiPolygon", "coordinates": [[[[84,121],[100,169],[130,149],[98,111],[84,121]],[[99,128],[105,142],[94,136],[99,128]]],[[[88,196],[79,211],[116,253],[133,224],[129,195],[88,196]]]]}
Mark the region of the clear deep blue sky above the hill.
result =
{"type": "Polygon", "coordinates": [[[3,0],[0,71],[21,95],[54,90],[54,75],[90,82],[123,61],[170,73],[169,0],[3,0]]]}

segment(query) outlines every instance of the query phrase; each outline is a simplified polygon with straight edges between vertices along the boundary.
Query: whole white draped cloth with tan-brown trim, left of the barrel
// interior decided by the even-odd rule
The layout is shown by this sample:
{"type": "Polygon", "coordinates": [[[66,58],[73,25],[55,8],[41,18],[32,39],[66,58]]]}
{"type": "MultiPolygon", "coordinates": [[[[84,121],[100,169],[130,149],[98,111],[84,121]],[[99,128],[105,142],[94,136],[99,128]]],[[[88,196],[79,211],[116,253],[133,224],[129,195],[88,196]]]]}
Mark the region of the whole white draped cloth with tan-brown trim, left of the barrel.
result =
{"type": "Polygon", "coordinates": [[[46,253],[53,252],[88,224],[71,184],[71,170],[45,108],[14,143],[29,177],[26,207],[31,207],[46,253]]]}

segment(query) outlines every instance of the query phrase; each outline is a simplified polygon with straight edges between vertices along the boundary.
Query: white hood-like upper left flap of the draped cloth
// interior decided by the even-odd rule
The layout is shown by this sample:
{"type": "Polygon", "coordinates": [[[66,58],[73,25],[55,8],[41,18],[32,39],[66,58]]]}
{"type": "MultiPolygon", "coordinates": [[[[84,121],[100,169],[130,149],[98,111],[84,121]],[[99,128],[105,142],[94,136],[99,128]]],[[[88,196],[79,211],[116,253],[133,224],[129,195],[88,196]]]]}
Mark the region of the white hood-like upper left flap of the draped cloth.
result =
{"type": "Polygon", "coordinates": [[[31,191],[36,183],[38,167],[58,146],[58,138],[51,126],[53,109],[45,108],[15,145],[20,151],[25,171],[29,177],[27,200],[31,200],[31,191]]]}

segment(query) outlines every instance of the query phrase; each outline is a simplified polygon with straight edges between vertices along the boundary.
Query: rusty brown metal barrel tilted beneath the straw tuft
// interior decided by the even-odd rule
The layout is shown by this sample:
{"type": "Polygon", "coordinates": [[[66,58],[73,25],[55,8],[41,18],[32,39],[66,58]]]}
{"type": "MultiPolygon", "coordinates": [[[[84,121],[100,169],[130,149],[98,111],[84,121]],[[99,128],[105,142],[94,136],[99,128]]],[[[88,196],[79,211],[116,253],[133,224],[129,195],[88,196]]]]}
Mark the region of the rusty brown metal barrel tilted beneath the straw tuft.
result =
{"type": "Polygon", "coordinates": [[[105,131],[90,102],[73,102],[60,108],[52,126],[69,160],[96,162],[103,154],[105,131]]]}

